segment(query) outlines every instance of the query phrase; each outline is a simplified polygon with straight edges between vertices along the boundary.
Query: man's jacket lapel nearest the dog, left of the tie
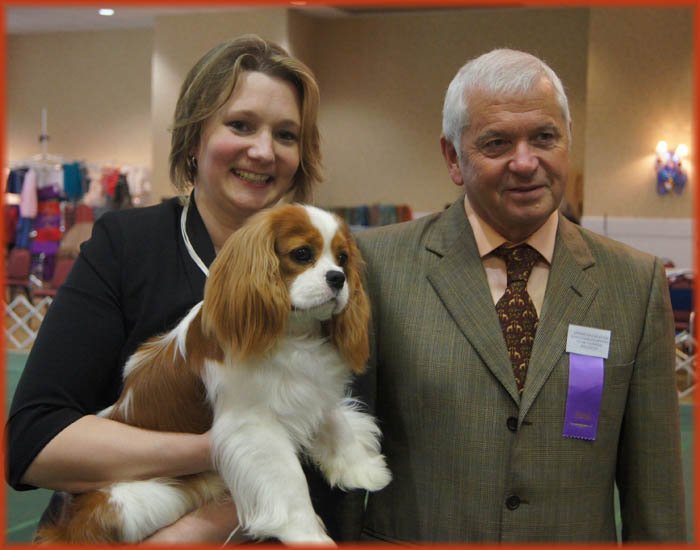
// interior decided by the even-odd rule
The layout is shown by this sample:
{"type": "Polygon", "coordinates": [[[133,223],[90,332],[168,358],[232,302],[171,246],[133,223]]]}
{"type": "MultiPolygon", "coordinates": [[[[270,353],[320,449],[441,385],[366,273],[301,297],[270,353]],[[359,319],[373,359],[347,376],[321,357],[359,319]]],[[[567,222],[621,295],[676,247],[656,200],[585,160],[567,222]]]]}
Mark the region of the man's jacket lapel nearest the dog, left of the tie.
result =
{"type": "Polygon", "coordinates": [[[433,226],[426,239],[426,248],[441,257],[428,272],[428,281],[459,330],[513,400],[518,402],[508,351],[474,234],[464,212],[463,199],[450,206],[433,226]]]}

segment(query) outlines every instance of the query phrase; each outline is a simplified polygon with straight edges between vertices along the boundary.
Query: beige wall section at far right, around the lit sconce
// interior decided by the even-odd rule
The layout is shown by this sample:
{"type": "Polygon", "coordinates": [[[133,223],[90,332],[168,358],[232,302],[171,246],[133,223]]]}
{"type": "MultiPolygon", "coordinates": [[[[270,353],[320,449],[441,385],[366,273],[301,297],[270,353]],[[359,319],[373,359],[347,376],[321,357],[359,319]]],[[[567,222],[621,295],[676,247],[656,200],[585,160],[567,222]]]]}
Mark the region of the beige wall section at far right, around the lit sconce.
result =
{"type": "Polygon", "coordinates": [[[690,217],[696,177],[659,196],[659,140],[693,142],[693,10],[591,10],[584,209],[588,216],[690,217]]]}

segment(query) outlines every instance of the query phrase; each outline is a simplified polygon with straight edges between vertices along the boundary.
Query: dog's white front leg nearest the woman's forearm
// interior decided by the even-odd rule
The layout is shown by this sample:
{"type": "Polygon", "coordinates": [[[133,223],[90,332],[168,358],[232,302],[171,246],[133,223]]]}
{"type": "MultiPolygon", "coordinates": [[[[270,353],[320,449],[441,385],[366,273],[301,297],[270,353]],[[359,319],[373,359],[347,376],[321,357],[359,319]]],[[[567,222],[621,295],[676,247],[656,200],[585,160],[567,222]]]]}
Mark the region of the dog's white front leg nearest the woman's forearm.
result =
{"type": "Polygon", "coordinates": [[[296,448],[266,411],[219,415],[214,465],[233,495],[241,527],[256,539],[333,544],[311,504],[296,448]]]}

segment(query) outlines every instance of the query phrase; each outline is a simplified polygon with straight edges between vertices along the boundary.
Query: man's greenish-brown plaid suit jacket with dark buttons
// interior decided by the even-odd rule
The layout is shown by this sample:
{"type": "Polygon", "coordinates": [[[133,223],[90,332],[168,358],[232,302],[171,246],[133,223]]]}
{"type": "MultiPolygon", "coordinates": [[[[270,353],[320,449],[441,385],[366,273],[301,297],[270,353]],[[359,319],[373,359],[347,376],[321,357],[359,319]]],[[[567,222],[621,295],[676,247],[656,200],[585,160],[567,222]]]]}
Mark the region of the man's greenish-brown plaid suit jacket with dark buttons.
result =
{"type": "Polygon", "coordinates": [[[346,537],[614,541],[617,483],[624,540],[685,541],[658,259],[560,218],[519,396],[463,199],[357,239],[373,303],[365,397],[394,481],[369,496],[361,520],[346,499],[346,537]],[[562,437],[570,324],[612,331],[595,441],[562,437]]]}

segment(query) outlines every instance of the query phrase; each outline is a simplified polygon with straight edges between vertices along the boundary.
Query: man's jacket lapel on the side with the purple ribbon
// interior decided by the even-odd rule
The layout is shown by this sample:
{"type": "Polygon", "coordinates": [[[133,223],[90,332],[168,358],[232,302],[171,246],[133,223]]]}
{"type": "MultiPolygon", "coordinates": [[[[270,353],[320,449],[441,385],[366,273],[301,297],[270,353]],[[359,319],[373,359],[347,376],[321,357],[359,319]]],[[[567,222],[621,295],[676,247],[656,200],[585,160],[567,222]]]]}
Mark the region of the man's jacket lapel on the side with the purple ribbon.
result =
{"type": "Polygon", "coordinates": [[[586,273],[594,263],[581,234],[560,216],[552,268],[520,404],[521,420],[565,353],[569,325],[583,322],[598,292],[586,273]]]}

